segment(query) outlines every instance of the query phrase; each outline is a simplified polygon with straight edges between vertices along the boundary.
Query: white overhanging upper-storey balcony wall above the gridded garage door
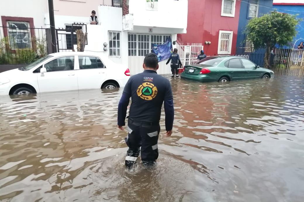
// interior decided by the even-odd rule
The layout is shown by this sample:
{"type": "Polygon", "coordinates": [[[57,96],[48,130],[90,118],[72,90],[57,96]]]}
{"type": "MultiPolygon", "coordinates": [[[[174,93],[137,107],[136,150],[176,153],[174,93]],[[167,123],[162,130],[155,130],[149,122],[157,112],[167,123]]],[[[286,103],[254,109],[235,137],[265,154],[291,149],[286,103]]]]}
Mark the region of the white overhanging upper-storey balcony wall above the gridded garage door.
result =
{"type": "Polygon", "coordinates": [[[159,0],[157,4],[157,11],[149,11],[146,0],[130,0],[134,25],[187,29],[188,0],[159,0]]]}

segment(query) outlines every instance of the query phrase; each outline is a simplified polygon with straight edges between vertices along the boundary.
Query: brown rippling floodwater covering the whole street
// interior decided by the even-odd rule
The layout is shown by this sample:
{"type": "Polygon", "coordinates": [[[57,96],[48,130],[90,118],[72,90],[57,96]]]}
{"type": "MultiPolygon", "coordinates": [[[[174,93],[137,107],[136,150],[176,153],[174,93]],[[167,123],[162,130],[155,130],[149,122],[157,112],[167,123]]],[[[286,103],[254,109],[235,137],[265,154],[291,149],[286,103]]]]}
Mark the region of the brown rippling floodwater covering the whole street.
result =
{"type": "MultiPolygon", "coordinates": [[[[303,69],[227,83],[170,79],[174,133],[154,169],[124,167],[118,90],[0,97],[0,201],[304,200],[303,69]]],[[[51,84],[50,84],[51,85],[51,84]]]]}

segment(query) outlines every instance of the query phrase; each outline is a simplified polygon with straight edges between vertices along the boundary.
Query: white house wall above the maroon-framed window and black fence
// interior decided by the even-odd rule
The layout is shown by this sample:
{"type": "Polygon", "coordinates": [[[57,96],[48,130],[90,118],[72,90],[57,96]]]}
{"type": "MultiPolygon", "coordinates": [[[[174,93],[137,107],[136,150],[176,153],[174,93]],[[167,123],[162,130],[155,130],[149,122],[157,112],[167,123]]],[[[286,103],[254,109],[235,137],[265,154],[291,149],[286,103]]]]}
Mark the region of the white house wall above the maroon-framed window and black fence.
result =
{"type": "MultiPolygon", "coordinates": [[[[45,28],[45,14],[47,12],[47,0],[0,0],[0,16],[33,18],[36,28],[45,28]]],[[[0,20],[0,26],[2,21],[0,20]]],[[[6,25],[3,25],[6,26],[6,25]]]]}

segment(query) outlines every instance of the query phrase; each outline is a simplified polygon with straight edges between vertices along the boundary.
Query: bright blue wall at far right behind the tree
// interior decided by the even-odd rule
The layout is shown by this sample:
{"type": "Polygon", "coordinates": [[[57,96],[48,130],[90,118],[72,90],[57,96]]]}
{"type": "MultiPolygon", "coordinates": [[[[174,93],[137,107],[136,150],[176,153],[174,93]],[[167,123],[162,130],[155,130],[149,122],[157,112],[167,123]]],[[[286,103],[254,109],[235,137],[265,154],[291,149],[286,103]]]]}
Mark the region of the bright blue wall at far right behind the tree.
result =
{"type": "MultiPolygon", "coordinates": [[[[299,14],[297,18],[304,19],[304,5],[273,5],[273,7],[276,8],[278,12],[289,13],[293,15],[299,14]]],[[[302,20],[297,26],[297,31],[298,31],[297,36],[294,38],[292,42],[290,42],[288,46],[285,47],[292,48],[297,39],[301,39],[301,38],[304,39],[304,20],[302,20]]]]}

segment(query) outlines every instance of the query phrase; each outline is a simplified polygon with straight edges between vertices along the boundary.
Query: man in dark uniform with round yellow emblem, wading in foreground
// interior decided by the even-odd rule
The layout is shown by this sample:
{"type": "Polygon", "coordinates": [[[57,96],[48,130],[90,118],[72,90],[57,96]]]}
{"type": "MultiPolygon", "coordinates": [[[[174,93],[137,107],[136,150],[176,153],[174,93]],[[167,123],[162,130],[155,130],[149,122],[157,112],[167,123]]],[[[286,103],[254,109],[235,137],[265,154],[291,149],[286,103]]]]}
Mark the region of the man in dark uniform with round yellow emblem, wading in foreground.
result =
{"type": "Polygon", "coordinates": [[[174,107],[171,84],[168,79],[157,74],[158,58],[148,53],[143,61],[143,73],[132,76],[123,90],[118,104],[117,124],[124,130],[127,106],[132,100],[128,118],[128,136],[125,141],[129,147],[126,167],[131,168],[139,153],[145,167],[150,167],[158,158],[157,140],[160,133],[159,121],[164,103],[166,136],[171,136],[174,107]],[[141,150],[140,150],[141,147],[141,150]]]}

